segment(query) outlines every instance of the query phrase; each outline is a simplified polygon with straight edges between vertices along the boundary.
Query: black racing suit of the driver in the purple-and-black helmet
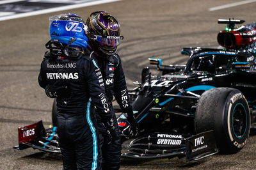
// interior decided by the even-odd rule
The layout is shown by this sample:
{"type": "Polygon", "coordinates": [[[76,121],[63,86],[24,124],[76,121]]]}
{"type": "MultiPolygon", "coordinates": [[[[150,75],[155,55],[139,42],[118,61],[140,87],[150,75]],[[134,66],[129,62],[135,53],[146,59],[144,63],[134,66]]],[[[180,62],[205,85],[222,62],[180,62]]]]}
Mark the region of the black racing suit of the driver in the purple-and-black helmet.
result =
{"type": "MultiPolygon", "coordinates": [[[[105,82],[106,97],[109,101],[112,101],[113,96],[115,95],[116,102],[120,105],[122,112],[132,115],[133,111],[131,104],[129,104],[125,75],[118,54],[113,54],[113,56],[110,56],[109,58],[103,58],[98,56],[95,52],[92,52],[90,58],[93,58],[100,68],[105,82]]],[[[98,116],[97,122],[101,134],[100,137],[102,137],[102,169],[119,169],[122,149],[120,132],[112,103],[110,102],[109,105],[111,105],[110,111],[118,137],[112,141],[111,144],[106,143],[106,128],[102,126],[102,120],[100,120],[98,116]]],[[[95,111],[98,112],[97,109],[95,111]]]]}

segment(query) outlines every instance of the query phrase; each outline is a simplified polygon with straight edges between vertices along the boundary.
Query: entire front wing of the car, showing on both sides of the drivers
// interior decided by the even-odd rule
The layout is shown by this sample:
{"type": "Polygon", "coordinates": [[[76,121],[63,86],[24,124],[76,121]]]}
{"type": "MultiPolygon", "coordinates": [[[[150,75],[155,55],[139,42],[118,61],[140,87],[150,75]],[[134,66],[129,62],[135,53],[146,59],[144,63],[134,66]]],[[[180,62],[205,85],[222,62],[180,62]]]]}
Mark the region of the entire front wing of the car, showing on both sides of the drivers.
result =
{"type": "MultiPolygon", "coordinates": [[[[42,121],[18,128],[19,146],[24,150],[34,148],[49,153],[61,153],[56,127],[45,130],[42,121]]],[[[129,143],[123,158],[172,158],[186,157],[186,160],[199,160],[218,153],[213,131],[196,135],[177,133],[154,133],[140,136],[129,143]]]]}

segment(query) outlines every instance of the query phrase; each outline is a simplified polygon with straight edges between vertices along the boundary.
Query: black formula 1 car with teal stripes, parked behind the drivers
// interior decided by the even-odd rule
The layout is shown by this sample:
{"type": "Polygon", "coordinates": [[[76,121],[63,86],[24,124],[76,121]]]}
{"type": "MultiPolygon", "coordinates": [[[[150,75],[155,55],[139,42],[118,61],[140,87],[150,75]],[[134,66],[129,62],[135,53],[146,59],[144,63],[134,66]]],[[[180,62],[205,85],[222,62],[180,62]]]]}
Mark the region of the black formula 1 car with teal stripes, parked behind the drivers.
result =
{"type": "MultiPolygon", "coordinates": [[[[140,135],[131,139],[125,116],[118,117],[127,148],[122,157],[199,160],[218,151],[237,153],[245,146],[250,128],[256,128],[256,24],[235,29],[243,22],[218,20],[228,25],[218,34],[223,49],[184,48],[186,65],[149,59],[158,74],[143,68],[141,82],[134,82],[138,87],[129,91],[140,135]]],[[[53,123],[55,116],[56,102],[53,123]]],[[[40,121],[19,128],[17,148],[28,147],[60,153],[56,127],[45,130],[40,121]]]]}

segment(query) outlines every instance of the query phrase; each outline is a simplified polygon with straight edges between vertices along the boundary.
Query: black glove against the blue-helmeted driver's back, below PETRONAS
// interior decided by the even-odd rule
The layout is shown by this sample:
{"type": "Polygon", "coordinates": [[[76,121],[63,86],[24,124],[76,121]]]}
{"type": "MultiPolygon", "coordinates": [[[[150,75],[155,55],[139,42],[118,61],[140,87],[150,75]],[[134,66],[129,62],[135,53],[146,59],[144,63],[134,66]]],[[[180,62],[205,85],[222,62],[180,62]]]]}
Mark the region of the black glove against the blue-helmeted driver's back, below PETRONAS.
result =
{"type": "Polygon", "coordinates": [[[45,86],[45,94],[49,98],[68,98],[70,97],[71,90],[70,87],[60,79],[54,82],[54,84],[45,86]]]}

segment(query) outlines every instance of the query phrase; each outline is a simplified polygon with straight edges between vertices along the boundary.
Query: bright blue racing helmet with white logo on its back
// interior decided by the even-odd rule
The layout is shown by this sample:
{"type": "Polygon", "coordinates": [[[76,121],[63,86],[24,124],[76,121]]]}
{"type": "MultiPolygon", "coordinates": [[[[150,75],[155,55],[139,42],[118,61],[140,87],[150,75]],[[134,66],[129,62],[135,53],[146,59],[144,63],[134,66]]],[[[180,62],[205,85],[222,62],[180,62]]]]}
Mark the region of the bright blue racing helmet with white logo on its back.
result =
{"type": "Polygon", "coordinates": [[[60,42],[69,47],[86,48],[88,27],[76,14],[64,13],[49,18],[50,36],[52,42],[60,42]]]}

